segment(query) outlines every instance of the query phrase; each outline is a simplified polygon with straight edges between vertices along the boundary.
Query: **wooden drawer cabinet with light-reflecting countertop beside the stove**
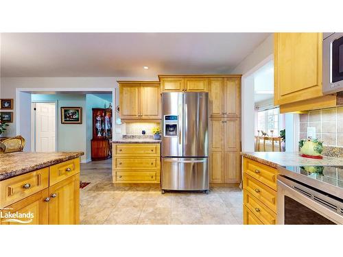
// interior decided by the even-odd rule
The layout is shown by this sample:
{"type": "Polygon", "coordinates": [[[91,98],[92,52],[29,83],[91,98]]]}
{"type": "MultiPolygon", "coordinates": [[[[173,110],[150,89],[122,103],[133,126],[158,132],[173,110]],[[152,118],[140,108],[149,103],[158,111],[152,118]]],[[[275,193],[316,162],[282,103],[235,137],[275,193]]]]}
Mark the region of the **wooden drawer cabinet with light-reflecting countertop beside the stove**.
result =
{"type": "Polygon", "coordinates": [[[304,158],[298,152],[242,152],[244,224],[276,224],[279,166],[343,165],[342,158],[304,158]]]}

